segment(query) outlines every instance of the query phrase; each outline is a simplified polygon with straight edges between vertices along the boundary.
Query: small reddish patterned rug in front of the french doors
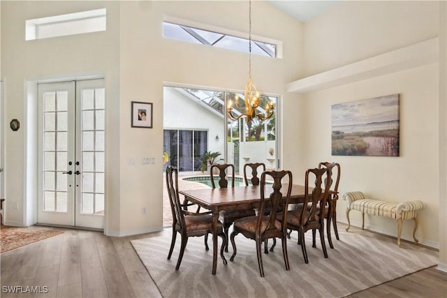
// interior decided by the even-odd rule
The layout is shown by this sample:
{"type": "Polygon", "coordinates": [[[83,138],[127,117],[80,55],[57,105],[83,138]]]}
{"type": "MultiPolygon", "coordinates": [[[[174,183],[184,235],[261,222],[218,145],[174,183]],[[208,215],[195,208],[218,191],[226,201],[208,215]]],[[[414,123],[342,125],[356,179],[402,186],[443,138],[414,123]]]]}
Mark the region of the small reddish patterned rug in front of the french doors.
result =
{"type": "Polygon", "coordinates": [[[62,234],[63,232],[64,231],[61,230],[44,230],[41,228],[16,228],[2,225],[0,229],[0,253],[6,253],[7,251],[12,251],[15,248],[33,244],[37,241],[62,234]]]}

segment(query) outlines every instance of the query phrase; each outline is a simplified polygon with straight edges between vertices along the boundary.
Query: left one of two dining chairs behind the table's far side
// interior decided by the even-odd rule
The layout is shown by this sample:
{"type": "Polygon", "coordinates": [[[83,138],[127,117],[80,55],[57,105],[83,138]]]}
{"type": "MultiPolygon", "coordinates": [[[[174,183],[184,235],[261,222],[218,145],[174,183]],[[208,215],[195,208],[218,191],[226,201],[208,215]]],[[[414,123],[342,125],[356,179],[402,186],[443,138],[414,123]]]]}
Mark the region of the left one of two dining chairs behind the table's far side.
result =
{"type": "MultiPolygon", "coordinates": [[[[212,165],[210,167],[210,177],[212,188],[217,188],[217,177],[214,177],[214,169],[217,170],[219,174],[219,188],[228,188],[228,183],[230,187],[235,187],[235,166],[230,163],[223,163],[212,165]],[[229,181],[230,180],[230,181],[229,181]]],[[[254,209],[240,209],[240,210],[222,210],[219,212],[219,219],[223,223],[223,232],[225,232],[227,239],[229,239],[228,230],[233,222],[238,218],[243,218],[246,216],[254,216],[254,209]]],[[[228,251],[228,241],[225,246],[225,251],[228,251]]]]}

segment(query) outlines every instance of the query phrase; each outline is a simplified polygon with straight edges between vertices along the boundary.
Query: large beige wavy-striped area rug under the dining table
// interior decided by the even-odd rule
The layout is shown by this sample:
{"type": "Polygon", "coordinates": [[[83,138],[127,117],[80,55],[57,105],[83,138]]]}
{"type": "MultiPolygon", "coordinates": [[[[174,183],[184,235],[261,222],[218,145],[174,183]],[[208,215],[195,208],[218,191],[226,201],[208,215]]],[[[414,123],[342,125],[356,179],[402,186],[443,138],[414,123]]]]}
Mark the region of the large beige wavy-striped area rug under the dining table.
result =
{"type": "MultiPolygon", "coordinates": [[[[179,270],[175,270],[180,237],[171,260],[170,230],[161,236],[131,241],[163,297],[344,297],[386,281],[437,264],[438,253],[409,243],[397,246],[395,239],[374,234],[339,231],[329,258],[321,244],[312,248],[312,232],[306,233],[309,264],[302,258],[297,233],[288,240],[290,271],[286,271],[281,243],[273,253],[263,253],[265,278],[259,275],[256,246],[242,234],[235,237],[237,255],[228,265],[218,258],[217,274],[212,276],[212,249],[205,251],[203,237],[190,237],[179,270]],[[380,238],[380,239],[379,239],[380,238]]],[[[318,239],[318,232],[317,232],[318,239]]],[[[211,244],[211,237],[209,239],[211,244]]],[[[271,242],[271,241],[270,241],[271,242]]],[[[219,248],[220,248],[219,239],[219,248]]],[[[210,248],[212,246],[210,245],[210,248]]]]}

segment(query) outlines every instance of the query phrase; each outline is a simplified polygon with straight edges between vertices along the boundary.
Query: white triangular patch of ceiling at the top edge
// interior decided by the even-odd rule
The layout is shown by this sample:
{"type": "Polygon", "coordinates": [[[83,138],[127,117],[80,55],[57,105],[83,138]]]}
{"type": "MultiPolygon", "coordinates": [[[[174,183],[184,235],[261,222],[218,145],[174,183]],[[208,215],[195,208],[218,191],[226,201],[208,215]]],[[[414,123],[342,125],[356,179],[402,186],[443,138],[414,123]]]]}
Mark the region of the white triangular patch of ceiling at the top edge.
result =
{"type": "Polygon", "coordinates": [[[339,0],[332,1],[302,1],[302,0],[267,0],[273,6],[300,22],[307,22],[317,15],[337,5],[339,0]]]}

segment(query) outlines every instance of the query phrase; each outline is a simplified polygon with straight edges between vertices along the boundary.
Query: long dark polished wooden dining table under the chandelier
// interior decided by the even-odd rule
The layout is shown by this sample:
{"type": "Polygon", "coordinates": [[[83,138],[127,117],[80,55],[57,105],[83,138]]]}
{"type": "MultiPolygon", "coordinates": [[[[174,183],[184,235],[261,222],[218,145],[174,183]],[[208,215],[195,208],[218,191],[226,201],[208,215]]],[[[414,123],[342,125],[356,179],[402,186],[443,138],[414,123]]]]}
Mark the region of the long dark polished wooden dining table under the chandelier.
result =
{"type": "MultiPolygon", "coordinates": [[[[286,195],[287,185],[283,185],[286,195]]],[[[265,188],[265,198],[270,197],[272,188],[265,188]]],[[[261,202],[260,186],[240,186],[230,188],[205,188],[194,190],[179,190],[186,200],[212,211],[212,274],[217,271],[217,223],[219,211],[258,208],[261,202]]],[[[289,204],[304,202],[305,186],[293,184],[289,204]]],[[[229,241],[229,239],[228,239],[229,241]]]]}

